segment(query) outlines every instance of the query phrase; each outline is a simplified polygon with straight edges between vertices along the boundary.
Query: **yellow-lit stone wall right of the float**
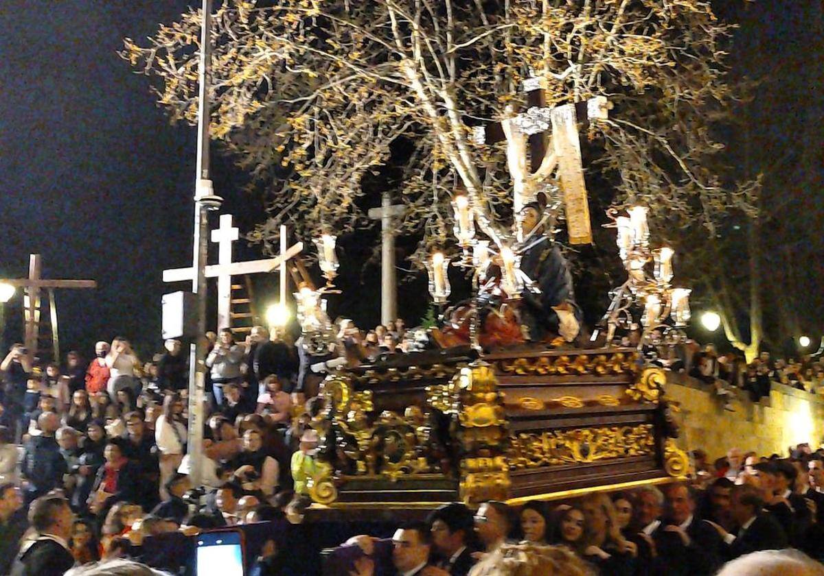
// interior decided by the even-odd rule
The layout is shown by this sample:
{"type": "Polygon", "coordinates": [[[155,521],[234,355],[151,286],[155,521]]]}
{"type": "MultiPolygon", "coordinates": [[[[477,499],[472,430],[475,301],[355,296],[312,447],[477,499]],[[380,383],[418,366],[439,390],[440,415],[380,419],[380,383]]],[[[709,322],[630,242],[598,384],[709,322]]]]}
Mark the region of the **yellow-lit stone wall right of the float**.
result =
{"type": "Polygon", "coordinates": [[[714,389],[695,379],[670,374],[666,397],[681,425],[681,448],[703,448],[710,461],[728,448],[755,450],[761,455],[785,455],[789,446],[824,444],[824,396],[773,383],[770,397],[751,402],[735,391],[735,411],[723,409],[714,389]],[[680,411],[679,411],[680,409],[680,411]]]}

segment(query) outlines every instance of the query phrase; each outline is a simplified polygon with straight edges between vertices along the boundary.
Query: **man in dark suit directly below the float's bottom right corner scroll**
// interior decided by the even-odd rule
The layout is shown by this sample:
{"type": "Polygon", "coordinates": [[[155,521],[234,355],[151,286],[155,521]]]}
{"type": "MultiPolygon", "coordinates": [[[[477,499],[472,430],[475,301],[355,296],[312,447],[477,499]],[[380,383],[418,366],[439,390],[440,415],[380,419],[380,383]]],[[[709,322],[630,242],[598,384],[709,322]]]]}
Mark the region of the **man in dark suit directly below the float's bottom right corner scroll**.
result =
{"type": "Polygon", "coordinates": [[[667,490],[667,507],[670,522],[664,530],[681,537],[689,574],[715,574],[722,564],[723,541],[710,523],[695,518],[695,492],[684,484],[672,485],[667,490]]]}

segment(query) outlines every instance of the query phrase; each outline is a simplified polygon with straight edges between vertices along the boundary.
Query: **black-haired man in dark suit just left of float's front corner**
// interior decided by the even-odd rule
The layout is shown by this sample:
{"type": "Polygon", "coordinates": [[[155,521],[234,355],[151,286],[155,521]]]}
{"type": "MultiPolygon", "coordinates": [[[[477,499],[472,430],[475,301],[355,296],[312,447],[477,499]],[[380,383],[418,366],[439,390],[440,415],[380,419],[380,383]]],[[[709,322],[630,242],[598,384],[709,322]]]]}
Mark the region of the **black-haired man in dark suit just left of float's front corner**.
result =
{"type": "Polygon", "coordinates": [[[444,574],[466,576],[475,564],[475,521],[466,504],[443,504],[429,514],[433,561],[444,574]]]}

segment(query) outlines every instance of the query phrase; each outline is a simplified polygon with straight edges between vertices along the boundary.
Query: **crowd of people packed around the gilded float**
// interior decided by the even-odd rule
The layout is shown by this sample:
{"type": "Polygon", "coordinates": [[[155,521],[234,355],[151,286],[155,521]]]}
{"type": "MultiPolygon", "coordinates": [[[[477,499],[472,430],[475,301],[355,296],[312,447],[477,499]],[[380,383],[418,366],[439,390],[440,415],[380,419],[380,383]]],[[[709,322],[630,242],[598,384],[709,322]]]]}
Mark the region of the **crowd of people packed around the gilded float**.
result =
{"type": "MultiPolygon", "coordinates": [[[[301,523],[320,466],[312,424],[325,371],[418,346],[400,320],[368,332],[346,319],[337,327],[341,349],[321,360],[264,327],[241,342],[230,330],[208,334],[199,485],[186,454],[189,356],[180,341],[142,363],[118,337],[98,342],[90,362],[70,352],[63,366],[12,346],[0,365],[0,574],[152,564],[147,538],[301,523]]],[[[331,551],[327,574],[714,574],[738,556],[789,547],[824,560],[824,449],[802,445],[788,456],[731,450],[710,463],[698,451],[688,485],[517,509],[446,504],[391,538],[354,537],[331,551]]],[[[253,574],[301,574],[288,564],[273,541],[253,574]]]]}

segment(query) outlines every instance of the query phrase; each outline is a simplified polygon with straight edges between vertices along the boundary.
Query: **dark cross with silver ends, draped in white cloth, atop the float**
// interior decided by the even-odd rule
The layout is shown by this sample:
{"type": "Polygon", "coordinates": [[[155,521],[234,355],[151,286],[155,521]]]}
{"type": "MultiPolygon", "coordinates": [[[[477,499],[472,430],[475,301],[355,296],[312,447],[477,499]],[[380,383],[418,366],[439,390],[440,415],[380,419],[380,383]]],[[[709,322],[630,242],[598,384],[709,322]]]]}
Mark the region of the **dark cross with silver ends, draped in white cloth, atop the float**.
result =
{"type": "Polygon", "coordinates": [[[606,118],[607,102],[596,96],[585,102],[546,106],[545,89],[541,78],[524,81],[527,93],[527,112],[474,128],[473,140],[481,144],[507,142],[507,163],[513,177],[516,213],[530,202],[540,185],[555,169],[564,189],[564,207],[571,244],[592,242],[587,191],[583,183],[578,128],[586,128],[590,119],[606,118]],[[578,123],[578,128],[575,124],[578,123]],[[553,132],[551,146],[550,128],[553,132]],[[530,167],[526,167],[527,138],[530,149],[530,167]]]}

